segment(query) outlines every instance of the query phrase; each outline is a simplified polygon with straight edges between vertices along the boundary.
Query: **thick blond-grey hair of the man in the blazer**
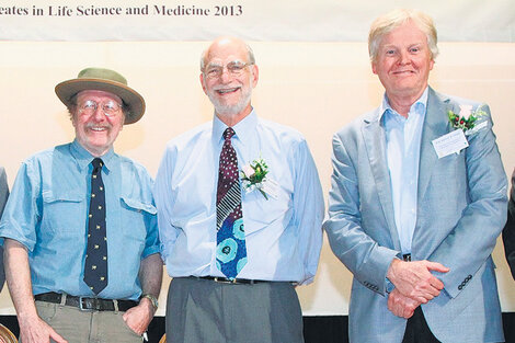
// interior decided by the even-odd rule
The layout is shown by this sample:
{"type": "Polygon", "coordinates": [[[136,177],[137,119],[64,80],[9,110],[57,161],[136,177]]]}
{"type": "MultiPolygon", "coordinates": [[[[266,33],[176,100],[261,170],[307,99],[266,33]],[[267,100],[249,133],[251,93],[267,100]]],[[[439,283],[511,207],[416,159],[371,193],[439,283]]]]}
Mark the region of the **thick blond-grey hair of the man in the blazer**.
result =
{"type": "Polygon", "coordinates": [[[371,23],[368,33],[368,55],[371,61],[377,58],[382,37],[408,21],[412,21],[427,36],[431,58],[438,56],[438,36],[433,19],[417,10],[398,9],[380,15],[371,23]]]}

